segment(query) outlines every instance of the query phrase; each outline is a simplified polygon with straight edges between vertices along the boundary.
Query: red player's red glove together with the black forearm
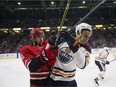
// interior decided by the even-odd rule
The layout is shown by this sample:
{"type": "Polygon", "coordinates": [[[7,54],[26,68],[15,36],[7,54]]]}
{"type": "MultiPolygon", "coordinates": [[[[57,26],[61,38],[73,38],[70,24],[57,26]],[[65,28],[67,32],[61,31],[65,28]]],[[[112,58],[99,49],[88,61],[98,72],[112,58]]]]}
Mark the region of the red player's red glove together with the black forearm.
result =
{"type": "Polygon", "coordinates": [[[47,65],[49,68],[53,67],[58,54],[58,48],[51,50],[50,47],[42,51],[40,56],[32,59],[29,64],[30,72],[36,72],[42,66],[47,65]]]}

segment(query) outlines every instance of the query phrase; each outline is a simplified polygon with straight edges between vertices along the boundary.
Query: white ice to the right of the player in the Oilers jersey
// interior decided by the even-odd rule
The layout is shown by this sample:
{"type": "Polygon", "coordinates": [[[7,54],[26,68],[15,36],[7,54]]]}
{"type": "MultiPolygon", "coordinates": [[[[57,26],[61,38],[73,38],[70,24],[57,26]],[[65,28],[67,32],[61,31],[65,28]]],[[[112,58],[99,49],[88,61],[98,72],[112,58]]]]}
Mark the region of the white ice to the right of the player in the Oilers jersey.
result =
{"type": "MultiPolygon", "coordinates": [[[[93,79],[96,78],[99,73],[99,69],[94,62],[96,55],[98,54],[91,55],[91,61],[88,67],[83,70],[77,69],[76,81],[78,83],[78,87],[96,87],[93,83],[93,79]]],[[[110,54],[108,56],[108,60],[111,61],[113,59],[114,56],[110,54]]],[[[99,87],[116,87],[116,61],[106,65],[105,79],[99,83],[99,87]]]]}

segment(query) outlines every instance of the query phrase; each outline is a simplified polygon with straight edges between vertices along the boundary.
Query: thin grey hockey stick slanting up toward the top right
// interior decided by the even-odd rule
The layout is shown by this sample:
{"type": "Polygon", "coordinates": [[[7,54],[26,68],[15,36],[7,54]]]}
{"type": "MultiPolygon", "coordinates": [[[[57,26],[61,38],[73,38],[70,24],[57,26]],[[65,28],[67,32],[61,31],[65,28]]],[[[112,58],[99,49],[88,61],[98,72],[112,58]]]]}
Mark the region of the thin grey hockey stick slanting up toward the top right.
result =
{"type": "MultiPolygon", "coordinates": [[[[74,30],[75,27],[83,22],[88,16],[90,16],[98,7],[100,7],[102,4],[104,4],[107,0],[102,0],[99,4],[97,4],[95,7],[92,8],[92,10],[90,10],[90,12],[88,14],[86,14],[80,21],[78,21],[71,29],[74,30]]],[[[71,30],[70,29],[70,30],[71,30]]]]}

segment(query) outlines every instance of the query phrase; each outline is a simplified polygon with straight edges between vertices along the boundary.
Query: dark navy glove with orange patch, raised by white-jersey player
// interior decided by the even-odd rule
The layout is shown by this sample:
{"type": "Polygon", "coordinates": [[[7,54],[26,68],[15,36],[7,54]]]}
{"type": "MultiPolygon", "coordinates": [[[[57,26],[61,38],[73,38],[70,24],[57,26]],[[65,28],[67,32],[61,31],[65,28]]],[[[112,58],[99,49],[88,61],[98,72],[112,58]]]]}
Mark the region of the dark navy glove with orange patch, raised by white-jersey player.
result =
{"type": "Polygon", "coordinates": [[[73,53],[75,53],[78,50],[79,43],[72,35],[70,35],[69,32],[61,31],[60,37],[63,37],[66,39],[66,42],[68,43],[68,45],[69,45],[70,49],[73,51],[73,53]]]}

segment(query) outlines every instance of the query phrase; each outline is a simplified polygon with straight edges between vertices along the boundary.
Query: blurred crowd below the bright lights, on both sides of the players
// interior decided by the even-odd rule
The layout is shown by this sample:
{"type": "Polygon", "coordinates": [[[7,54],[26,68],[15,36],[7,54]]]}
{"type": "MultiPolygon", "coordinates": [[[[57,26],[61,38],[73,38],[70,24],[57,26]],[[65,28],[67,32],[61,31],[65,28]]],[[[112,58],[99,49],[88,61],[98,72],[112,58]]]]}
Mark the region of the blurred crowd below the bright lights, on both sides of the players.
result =
{"type": "MultiPolygon", "coordinates": [[[[51,34],[45,32],[48,38],[51,34]]],[[[30,43],[29,32],[0,31],[0,54],[14,53],[20,50],[22,46],[30,43]]],[[[88,42],[91,48],[116,47],[116,30],[115,29],[94,29],[93,35],[88,42]]]]}

